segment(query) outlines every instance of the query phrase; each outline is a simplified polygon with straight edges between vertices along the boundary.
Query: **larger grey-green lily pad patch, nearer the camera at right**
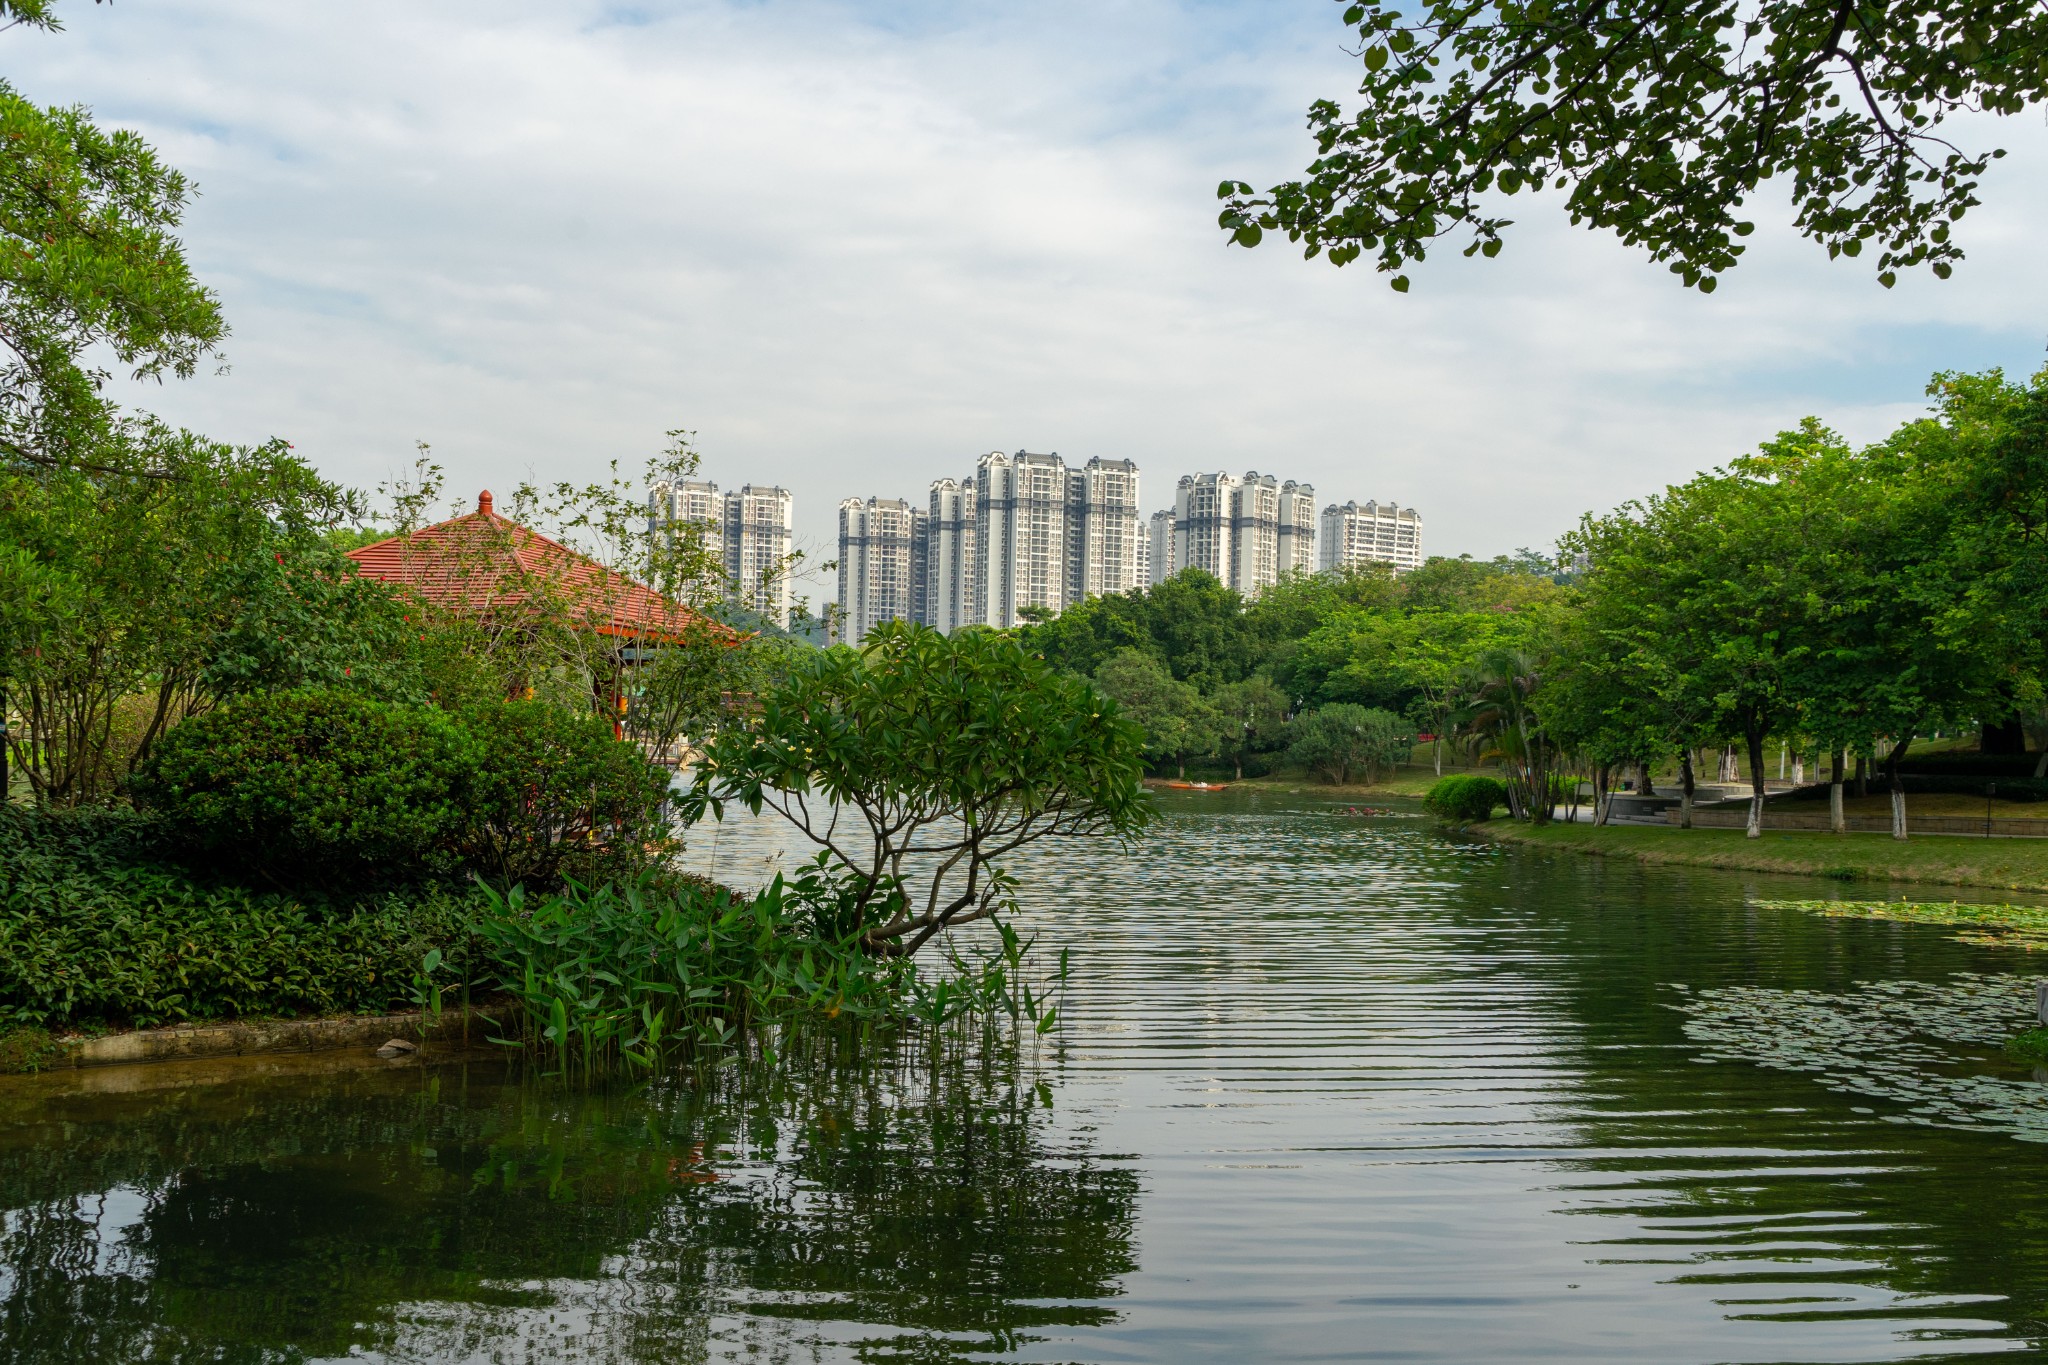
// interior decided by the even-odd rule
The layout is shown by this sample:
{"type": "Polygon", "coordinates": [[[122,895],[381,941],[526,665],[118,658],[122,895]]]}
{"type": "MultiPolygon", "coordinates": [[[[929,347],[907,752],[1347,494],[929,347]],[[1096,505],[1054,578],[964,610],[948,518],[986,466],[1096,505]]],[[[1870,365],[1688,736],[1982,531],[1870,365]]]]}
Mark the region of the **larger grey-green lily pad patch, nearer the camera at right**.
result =
{"type": "Polygon", "coordinates": [[[1898,1101],[1907,1109],[1886,1115],[1894,1124],[2048,1142],[2048,1085],[2015,1076],[2005,1052],[2036,1023],[2032,976],[1966,972],[1833,995],[1716,986],[1688,990],[1675,1009],[1710,1060],[1808,1072],[1837,1093],[1898,1101]]]}

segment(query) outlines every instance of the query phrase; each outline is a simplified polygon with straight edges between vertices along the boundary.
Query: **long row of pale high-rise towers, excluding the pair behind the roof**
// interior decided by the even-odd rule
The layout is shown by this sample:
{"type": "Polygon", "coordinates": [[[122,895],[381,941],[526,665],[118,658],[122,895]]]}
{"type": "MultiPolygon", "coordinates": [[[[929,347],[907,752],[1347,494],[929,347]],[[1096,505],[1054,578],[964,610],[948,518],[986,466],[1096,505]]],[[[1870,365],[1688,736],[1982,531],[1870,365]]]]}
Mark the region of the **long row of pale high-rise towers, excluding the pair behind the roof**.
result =
{"type": "Polygon", "coordinates": [[[1186,475],[1174,505],[1143,518],[1130,460],[1069,469],[1059,454],[991,450],[967,479],[932,483],[924,508],[901,497],[840,503],[836,634],[858,641],[885,620],[1014,626],[1182,569],[1255,598],[1288,573],[1360,561],[1419,567],[1421,516],[1350,501],[1317,518],[1311,485],[1253,471],[1186,475]]]}

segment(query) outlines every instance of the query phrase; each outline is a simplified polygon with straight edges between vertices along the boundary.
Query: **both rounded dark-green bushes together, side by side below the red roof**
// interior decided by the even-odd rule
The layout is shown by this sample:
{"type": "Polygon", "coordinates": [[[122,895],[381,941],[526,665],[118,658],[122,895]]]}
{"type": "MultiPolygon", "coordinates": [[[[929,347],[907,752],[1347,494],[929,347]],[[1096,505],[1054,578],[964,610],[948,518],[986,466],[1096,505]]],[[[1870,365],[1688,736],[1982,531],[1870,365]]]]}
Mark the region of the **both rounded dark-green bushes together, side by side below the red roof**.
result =
{"type": "Polygon", "coordinates": [[[276,886],[553,886],[635,864],[668,774],[545,702],[449,714],[279,692],[178,724],[133,792],[184,851],[276,886]]]}

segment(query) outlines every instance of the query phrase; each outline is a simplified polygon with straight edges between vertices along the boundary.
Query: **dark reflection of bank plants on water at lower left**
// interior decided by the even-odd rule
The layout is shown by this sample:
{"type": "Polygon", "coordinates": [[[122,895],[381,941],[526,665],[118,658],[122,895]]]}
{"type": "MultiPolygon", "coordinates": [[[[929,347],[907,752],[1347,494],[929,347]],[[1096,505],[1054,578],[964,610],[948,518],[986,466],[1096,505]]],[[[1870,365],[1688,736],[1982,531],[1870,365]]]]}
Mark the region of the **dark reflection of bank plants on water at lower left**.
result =
{"type": "Polygon", "coordinates": [[[1014,1048],[782,1044],[618,1089],[8,1085],[0,1359],[940,1361],[1114,1318],[1137,1177],[1014,1048]]]}

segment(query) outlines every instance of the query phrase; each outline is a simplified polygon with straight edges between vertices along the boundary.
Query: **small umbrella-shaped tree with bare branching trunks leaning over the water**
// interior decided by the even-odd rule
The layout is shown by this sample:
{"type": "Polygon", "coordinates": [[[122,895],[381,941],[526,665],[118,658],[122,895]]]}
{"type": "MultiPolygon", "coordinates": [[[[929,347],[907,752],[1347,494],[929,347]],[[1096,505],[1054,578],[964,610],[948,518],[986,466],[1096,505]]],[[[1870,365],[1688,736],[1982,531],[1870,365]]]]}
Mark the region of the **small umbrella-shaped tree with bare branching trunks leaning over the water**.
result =
{"type": "Polygon", "coordinates": [[[784,817],[856,888],[860,943],[907,958],[1008,909],[1026,843],[1143,829],[1141,741],[1004,632],[885,622],[858,651],[797,653],[752,716],[709,737],[682,810],[784,817]]]}

